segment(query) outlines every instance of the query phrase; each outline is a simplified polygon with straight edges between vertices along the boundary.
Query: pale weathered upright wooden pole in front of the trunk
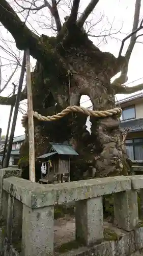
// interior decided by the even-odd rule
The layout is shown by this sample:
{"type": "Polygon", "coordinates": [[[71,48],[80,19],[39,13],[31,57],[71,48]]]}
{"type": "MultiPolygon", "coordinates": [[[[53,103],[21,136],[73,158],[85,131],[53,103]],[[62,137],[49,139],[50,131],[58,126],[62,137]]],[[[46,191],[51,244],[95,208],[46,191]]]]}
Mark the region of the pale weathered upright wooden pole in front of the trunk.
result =
{"type": "Polygon", "coordinates": [[[26,85],[27,85],[27,105],[28,105],[30,180],[35,182],[35,143],[34,143],[33,99],[32,99],[32,83],[31,83],[30,51],[28,49],[26,50],[26,85]]]}

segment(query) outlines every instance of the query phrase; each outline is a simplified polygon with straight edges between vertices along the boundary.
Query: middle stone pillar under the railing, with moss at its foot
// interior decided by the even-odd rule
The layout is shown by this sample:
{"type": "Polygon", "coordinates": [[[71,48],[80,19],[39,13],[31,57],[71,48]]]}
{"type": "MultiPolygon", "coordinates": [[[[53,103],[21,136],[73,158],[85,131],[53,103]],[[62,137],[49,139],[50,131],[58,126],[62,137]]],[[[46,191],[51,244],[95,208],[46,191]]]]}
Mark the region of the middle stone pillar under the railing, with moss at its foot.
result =
{"type": "Polygon", "coordinates": [[[102,197],[76,202],[75,207],[76,239],[85,245],[100,242],[103,239],[102,197]]]}

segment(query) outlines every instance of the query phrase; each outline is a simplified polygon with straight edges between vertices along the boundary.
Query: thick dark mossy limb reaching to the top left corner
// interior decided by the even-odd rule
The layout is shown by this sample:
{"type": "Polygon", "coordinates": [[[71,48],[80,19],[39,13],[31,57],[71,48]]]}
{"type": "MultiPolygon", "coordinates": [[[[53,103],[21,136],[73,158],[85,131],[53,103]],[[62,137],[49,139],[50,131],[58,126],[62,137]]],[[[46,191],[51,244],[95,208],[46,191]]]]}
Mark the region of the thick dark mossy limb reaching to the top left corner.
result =
{"type": "MultiPolygon", "coordinates": [[[[43,65],[46,65],[48,60],[48,71],[50,74],[50,71],[55,67],[53,62],[53,59],[56,58],[54,51],[47,51],[42,39],[28,29],[26,25],[23,26],[20,18],[6,0],[1,0],[0,22],[12,34],[18,49],[25,50],[29,48],[30,54],[43,63],[43,65]]],[[[46,40],[48,41],[48,36],[46,36],[46,40]]]]}

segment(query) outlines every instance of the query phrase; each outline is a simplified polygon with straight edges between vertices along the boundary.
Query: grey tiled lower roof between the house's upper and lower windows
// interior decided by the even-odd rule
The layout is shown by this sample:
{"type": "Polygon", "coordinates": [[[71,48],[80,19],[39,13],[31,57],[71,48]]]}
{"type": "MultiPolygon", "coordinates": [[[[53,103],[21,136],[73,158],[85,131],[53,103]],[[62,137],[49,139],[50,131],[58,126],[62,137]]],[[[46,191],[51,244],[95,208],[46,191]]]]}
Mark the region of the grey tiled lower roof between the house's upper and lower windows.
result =
{"type": "Polygon", "coordinates": [[[143,118],[122,121],[120,123],[120,127],[123,130],[126,130],[129,128],[129,131],[128,131],[129,133],[141,132],[143,131],[143,118]]]}

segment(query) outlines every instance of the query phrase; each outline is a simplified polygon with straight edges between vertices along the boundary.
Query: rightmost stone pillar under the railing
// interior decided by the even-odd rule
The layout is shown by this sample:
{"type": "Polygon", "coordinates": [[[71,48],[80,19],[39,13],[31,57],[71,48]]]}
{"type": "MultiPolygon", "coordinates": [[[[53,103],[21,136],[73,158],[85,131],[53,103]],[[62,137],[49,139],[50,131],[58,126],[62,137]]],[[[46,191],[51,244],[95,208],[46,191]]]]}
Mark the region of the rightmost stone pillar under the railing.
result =
{"type": "Polygon", "coordinates": [[[114,195],[115,224],[130,231],[138,224],[138,204],[136,190],[129,190],[114,195]]]}

